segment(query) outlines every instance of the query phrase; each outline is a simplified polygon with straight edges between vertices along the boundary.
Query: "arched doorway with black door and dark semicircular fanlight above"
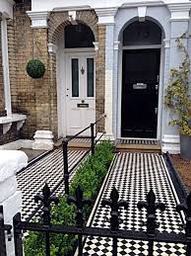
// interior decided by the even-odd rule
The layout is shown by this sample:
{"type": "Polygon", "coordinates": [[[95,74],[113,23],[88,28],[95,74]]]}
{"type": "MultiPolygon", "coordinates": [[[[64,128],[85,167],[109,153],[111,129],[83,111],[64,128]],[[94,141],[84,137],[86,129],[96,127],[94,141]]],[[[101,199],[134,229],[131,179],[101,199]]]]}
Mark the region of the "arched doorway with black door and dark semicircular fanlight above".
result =
{"type": "Polygon", "coordinates": [[[157,138],[161,30],[135,21],[122,37],[121,136],[157,138]]]}

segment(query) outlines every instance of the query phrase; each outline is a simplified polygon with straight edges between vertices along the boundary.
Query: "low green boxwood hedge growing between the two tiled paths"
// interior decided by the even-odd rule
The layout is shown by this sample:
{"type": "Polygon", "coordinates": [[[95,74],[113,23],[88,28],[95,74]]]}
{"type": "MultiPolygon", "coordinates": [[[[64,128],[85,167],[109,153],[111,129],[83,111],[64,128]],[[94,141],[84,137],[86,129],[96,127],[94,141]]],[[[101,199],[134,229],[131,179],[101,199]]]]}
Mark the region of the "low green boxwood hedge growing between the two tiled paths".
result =
{"type": "MultiPolygon", "coordinates": [[[[113,144],[104,141],[96,146],[95,155],[91,155],[81,164],[70,186],[70,195],[75,195],[80,185],[84,191],[84,198],[96,200],[101,183],[113,158],[113,144]]],[[[94,205],[94,204],[93,204],[94,205]]],[[[88,219],[92,207],[85,208],[85,220],[88,219]]],[[[65,196],[59,198],[58,206],[51,209],[52,224],[75,224],[75,207],[67,204],[65,196]]],[[[73,255],[77,237],[68,234],[50,234],[50,255],[73,255]]],[[[44,256],[44,235],[41,232],[30,232],[24,239],[26,256],[44,256]]]]}

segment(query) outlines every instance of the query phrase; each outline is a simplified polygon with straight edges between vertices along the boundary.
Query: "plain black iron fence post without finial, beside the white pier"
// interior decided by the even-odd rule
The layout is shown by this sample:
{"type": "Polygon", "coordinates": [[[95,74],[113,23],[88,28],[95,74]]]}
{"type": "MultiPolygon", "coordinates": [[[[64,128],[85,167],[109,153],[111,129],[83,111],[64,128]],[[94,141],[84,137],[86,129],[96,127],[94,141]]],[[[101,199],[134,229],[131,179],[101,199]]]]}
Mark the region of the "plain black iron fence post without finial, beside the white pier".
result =
{"type": "Polygon", "coordinates": [[[15,255],[23,256],[22,230],[17,229],[17,225],[22,221],[21,213],[17,213],[13,217],[14,225],[14,241],[15,241],[15,255]]]}

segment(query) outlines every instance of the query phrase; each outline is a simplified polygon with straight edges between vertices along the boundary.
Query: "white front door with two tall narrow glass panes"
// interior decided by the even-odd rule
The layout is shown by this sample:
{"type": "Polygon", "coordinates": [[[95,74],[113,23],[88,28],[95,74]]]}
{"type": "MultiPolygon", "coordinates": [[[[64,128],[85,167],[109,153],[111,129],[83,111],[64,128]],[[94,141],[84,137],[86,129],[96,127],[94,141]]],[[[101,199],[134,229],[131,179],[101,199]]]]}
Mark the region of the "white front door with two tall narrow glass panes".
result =
{"type": "Polygon", "coordinates": [[[66,76],[67,135],[74,135],[96,121],[94,54],[67,53],[66,76]]]}

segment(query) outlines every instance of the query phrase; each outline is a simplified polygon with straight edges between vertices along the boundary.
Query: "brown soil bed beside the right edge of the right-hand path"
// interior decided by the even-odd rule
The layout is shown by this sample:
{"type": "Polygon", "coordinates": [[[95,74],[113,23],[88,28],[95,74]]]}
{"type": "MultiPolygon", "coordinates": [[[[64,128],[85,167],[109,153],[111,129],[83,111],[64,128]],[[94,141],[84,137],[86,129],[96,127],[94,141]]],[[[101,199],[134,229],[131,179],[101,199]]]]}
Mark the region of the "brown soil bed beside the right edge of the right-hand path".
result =
{"type": "Polygon", "coordinates": [[[179,154],[170,155],[175,169],[180,174],[183,182],[189,191],[191,191],[191,161],[183,160],[179,154]]]}

